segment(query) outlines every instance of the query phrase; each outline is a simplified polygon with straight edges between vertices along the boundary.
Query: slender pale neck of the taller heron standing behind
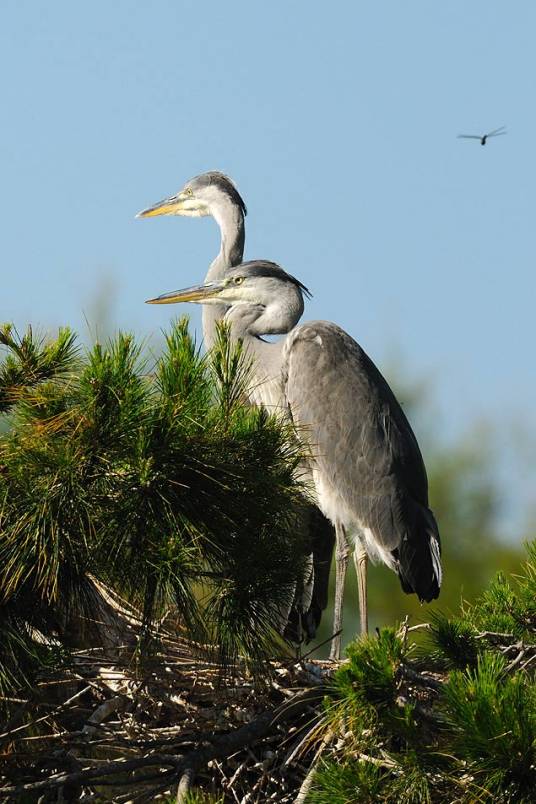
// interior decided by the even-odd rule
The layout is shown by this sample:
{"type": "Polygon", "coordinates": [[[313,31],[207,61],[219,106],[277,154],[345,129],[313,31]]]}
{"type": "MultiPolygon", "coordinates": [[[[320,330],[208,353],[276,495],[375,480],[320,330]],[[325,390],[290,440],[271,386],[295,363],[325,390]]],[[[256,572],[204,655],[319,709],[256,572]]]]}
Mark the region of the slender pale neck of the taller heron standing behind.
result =
{"type": "MultiPolygon", "coordinates": [[[[206,282],[221,279],[230,268],[240,265],[246,239],[244,215],[239,207],[226,202],[214,209],[212,215],[220,227],[221,244],[219,254],[208,269],[206,282]]],[[[216,322],[223,318],[227,309],[224,304],[203,305],[203,340],[206,349],[213,345],[216,322]]]]}

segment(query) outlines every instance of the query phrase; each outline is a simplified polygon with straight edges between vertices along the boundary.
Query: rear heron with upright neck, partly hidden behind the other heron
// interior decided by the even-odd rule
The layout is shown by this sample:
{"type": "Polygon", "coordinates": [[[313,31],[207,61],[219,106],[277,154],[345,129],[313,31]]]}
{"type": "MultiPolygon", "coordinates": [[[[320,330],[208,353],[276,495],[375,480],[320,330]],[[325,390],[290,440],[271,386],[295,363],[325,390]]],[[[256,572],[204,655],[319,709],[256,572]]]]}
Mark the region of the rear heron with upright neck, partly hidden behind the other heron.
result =
{"type": "MultiPolygon", "coordinates": [[[[206,282],[224,278],[228,271],[239,265],[244,256],[246,205],[232,179],[217,170],[202,173],[189,179],[174,195],[142,210],[136,217],[152,218],[159,215],[214,218],[220,229],[220,249],[212,261],[206,282]]],[[[227,310],[225,303],[203,305],[203,339],[209,348],[214,341],[216,321],[227,310]]],[[[315,506],[304,511],[311,542],[313,577],[311,588],[291,611],[286,635],[299,641],[301,631],[312,639],[328,602],[329,571],[335,543],[335,534],[329,521],[315,506]],[[300,609],[298,613],[297,609],[300,609]]]]}

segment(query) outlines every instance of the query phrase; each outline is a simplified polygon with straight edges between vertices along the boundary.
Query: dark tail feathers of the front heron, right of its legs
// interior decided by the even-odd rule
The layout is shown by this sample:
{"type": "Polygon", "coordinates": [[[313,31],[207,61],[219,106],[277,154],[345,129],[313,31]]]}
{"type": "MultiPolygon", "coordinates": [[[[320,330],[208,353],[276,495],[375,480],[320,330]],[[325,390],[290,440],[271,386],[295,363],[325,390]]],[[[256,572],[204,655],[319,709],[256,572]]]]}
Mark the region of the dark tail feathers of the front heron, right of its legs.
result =
{"type": "Polygon", "coordinates": [[[415,592],[421,603],[429,603],[439,596],[441,587],[441,541],[430,509],[414,506],[413,527],[396,551],[398,577],[404,592],[415,592]]]}

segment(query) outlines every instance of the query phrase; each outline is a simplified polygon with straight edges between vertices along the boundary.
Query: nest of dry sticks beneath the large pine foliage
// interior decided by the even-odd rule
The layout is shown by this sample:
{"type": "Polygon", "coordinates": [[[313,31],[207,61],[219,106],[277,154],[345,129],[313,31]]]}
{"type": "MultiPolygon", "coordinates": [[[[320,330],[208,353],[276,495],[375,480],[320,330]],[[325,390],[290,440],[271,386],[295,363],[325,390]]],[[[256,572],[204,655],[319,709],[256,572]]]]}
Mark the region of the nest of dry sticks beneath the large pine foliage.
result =
{"type": "Polygon", "coordinates": [[[105,644],[4,701],[0,801],[181,802],[197,786],[225,802],[299,800],[333,663],[271,662],[259,680],[169,627],[141,661],[136,612],[100,591],[105,644]]]}

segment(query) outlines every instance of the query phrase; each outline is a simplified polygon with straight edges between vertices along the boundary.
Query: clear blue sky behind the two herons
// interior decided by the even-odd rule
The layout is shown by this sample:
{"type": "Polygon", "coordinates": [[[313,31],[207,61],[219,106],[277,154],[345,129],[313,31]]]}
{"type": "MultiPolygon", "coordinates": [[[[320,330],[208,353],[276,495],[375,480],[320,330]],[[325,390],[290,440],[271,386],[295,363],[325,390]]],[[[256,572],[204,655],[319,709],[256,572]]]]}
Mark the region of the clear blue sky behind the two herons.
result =
{"type": "Polygon", "coordinates": [[[218,233],[134,215],[224,170],[247,256],[311,288],[306,317],[430,376],[445,433],[516,430],[526,502],[535,30],[529,0],[4,0],[0,320],[88,339],[107,288],[117,327],[157,333],[144,299],[202,279],[218,233]]]}

